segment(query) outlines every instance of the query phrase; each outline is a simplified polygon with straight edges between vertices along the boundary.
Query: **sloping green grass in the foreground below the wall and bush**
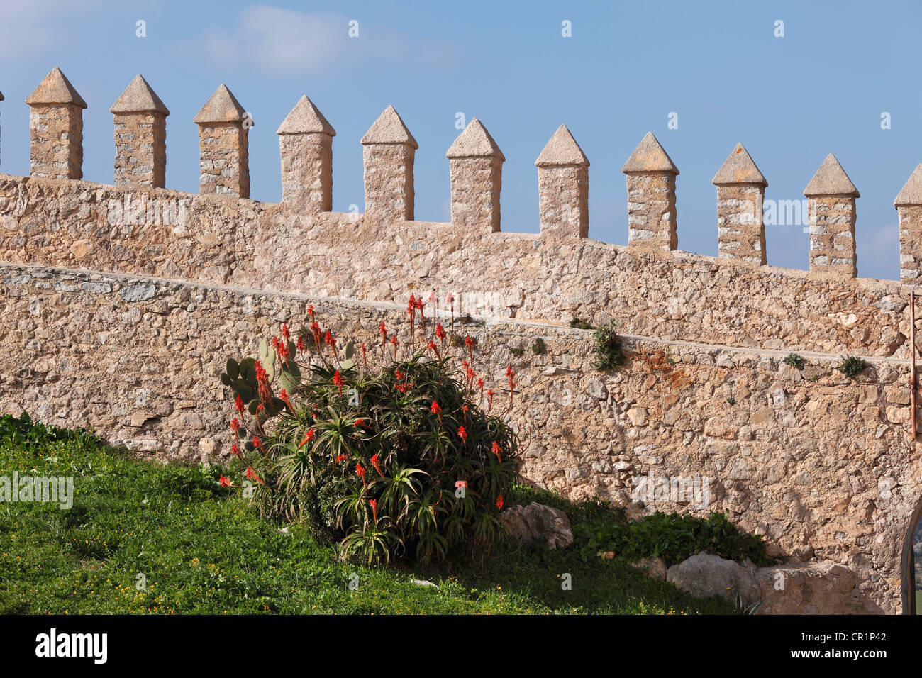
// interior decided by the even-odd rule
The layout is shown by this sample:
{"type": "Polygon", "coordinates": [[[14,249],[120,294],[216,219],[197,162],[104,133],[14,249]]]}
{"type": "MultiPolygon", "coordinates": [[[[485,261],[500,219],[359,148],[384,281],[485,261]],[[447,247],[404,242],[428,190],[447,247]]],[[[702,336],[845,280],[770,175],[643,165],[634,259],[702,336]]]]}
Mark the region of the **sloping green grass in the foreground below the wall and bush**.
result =
{"type": "MultiPolygon", "coordinates": [[[[0,502],[0,613],[733,612],[617,560],[583,562],[575,547],[453,553],[431,567],[340,562],[307,529],[283,534],[255,515],[237,491],[219,487],[218,468],[138,461],[86,433],[4,418],[0,476],[15,470],[73,476],[75,498],[68,510],[0,502]],[[572,590],[561,589],[564,573],[572,590]]],[[[565,506],[575,521],[605,510],[517,494],[565,506]]]]}

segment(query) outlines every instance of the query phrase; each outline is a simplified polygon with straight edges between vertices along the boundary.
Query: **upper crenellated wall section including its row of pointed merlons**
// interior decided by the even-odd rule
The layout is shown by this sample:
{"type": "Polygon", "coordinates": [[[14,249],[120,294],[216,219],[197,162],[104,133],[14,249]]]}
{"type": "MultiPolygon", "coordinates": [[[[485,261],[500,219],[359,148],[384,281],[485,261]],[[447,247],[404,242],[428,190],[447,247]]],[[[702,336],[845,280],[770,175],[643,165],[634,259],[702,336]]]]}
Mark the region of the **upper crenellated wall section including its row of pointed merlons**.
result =
{"type": "MultiPolygon", "coordinates": [[[[393,107],[361,138],[365,212],[333,212],[336,130],[306,96],[278,127],[282,200],[250,200],[249,116],[221,85],[195,114],[199,194],[164,188],[170,111],[137,76],[112,104],[114,185],[82,176],[87,107],[59,68],[30,94],[30,178],[0,175],[0,260],[395,301],[727,346],[892,355],[895,282],[857,279],[859,193],[829,155],[804,189],[810,271],[766,264],[767,180],[741,145],[716,172],[718,256],[678,249],[679,168],[652,133],[624,163],[627,246],[588,238],[589,160],[565,125],[538,169],[540,232],[502,232],[505,157],[474,118],[446,152],[452,220],[414,220],[419,144],[393,107]],[[361,256],[357,256],[361,253],[361,256]]],[[[899,192],[901,283],[922,284],[922,165],[899,192]]]]}

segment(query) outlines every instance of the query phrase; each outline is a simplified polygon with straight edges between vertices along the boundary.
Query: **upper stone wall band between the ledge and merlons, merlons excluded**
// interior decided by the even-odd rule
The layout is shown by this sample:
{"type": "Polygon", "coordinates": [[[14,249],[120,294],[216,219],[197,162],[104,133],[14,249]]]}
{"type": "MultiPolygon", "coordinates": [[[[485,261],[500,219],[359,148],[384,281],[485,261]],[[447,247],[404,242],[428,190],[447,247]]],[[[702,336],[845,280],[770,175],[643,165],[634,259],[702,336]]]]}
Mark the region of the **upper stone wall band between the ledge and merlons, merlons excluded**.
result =
{"type": "Polygon", "coordinates": [[[383,302],[452,292],[472,315],[610,318],[626,334],[776,350],[889,356],[908,336],[895,281],[638,251],[556,230],[297,214],[235,196],[6,174],[0,261],[383,302]],[[164,223],[164,209],[174,221],[164,223]]]}

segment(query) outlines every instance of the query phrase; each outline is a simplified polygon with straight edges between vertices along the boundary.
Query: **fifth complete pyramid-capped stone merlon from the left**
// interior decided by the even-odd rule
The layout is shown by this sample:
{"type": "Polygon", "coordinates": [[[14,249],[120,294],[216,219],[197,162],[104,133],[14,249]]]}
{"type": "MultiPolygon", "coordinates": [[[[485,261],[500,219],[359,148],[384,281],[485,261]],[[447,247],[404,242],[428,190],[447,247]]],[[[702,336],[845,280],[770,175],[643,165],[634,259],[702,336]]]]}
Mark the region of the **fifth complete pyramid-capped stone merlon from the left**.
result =
{"type": "Polygon", "coordinates": [[[384,221],[412,221],[413,160],[420,145],[393,106],[361,137],[365,214],[384,221]]]}

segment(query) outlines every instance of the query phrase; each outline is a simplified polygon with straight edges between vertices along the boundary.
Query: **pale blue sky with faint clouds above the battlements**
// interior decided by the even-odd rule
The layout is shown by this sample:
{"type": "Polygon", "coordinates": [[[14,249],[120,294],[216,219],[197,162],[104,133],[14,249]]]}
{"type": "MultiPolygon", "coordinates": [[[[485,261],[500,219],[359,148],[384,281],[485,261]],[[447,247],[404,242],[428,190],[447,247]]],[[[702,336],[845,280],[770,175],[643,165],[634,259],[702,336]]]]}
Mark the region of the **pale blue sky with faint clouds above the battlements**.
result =
{"type": "MultiPolygon", "coordinates": [[[[226,83],[252,113],[251,196],[276,202],[279,123],[307,94],[337,129],[334,209],[362,209],[359,139],[393,104],[420,143],[416,218],[449,220],[445,150],[477,116],[506,162],[502,230],[538,231],[534,161],[565,123],[589,161],[589,235],[627,243],[621,165],[652,131],[680,169],[679,246],[716,254],[715,172],[742,142],[766,198],[801,199],[834,153],[861,192],[858,275],[897,279],[893,198],[922,161],[905,2],[107,2],[0,0],[0,171],[29,173],[23,100],[54,66],[89,103],[84,178],[112,183],[109,107],[141,73],[171,110],[167,186],[198,190],[192,118],[226,83]],[[147,37],[136,37],[136,21],[147,37]],[[774,36],[775,21],[785,36],[774,36]],[[349,21],[359,37],[349,38],[349,21]],[[561,35],[561,22],[572,37],[561,35]],[[881,113],[891,128],[881,129],[881,113]],[[668,129],[669,113],[678,129],[668,129]]],[[[799,225],[767,226],[770,264],[808,268],[799,225]]]]}

